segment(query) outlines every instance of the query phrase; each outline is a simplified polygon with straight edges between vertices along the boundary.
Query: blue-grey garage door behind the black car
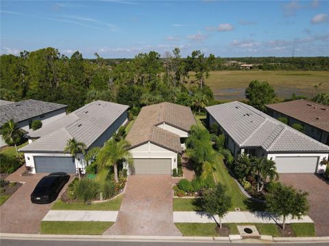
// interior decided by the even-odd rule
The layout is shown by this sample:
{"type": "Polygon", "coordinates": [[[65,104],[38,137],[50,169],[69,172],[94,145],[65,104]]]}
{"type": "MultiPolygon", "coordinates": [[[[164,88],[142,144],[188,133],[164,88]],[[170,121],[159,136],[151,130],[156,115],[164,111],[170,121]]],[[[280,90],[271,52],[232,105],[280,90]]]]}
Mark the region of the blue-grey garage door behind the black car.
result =
{"type": "Polygon", "coordinates": [[[34,157],[36,172],[66,172],[75,173],[73,157],[36,156],[34,157]]]}

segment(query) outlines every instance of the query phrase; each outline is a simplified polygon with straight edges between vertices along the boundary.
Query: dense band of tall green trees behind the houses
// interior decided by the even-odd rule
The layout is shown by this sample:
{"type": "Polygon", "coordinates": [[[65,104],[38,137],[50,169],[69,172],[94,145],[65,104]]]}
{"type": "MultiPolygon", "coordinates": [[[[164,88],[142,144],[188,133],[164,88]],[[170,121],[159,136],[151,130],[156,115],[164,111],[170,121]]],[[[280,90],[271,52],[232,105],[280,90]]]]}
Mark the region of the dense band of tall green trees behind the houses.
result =
{"type": "Polygon", "coordinates": [[[0,95],[4,100],[34,98],[68,105],[73,111],[93,100],[118,102],[138,113],[145,105],[168,101],[200,111],[215,103],[204,84],[215,56],[200,51],[182,58],[179,49],[164,57],[155,51],[134,59],[108,61],[95,53],[84,59],[79,51],[67,57],[51,47],[0,57],[0,95]],[[195,76],[190,79],[190,72],[195,76]]]}

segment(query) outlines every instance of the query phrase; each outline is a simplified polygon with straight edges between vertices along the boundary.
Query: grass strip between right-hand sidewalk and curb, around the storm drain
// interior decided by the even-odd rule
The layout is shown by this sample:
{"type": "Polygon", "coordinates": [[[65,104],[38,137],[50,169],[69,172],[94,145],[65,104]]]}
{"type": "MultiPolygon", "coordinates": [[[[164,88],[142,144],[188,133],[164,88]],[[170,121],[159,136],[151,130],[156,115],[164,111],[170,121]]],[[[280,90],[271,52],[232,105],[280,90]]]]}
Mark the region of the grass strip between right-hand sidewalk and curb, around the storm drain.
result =
{"type": "MultiPolygon", "coordinates": [[[[274,223],[225,223],[225,225],[230,228],[231,235],[239,234],[236,226],[252,225],[256,226],[261,235],[281,236],[278,226],[274,223]]],[[[175,223],[175,226],[184,236],[219,236],[216,232],[216,223],[175,223]]]]}

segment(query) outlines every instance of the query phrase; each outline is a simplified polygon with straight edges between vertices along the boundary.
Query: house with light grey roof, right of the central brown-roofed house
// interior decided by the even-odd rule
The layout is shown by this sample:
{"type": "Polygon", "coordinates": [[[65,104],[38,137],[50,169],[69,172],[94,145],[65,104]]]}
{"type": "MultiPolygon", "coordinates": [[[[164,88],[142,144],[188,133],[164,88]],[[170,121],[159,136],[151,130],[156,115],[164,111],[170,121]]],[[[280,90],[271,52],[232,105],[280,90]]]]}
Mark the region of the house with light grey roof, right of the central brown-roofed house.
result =
{"type": "Polygon", "coordinates": [[[276,162],[279,173],[324,172],[329,146],[241,102],[206,107],[207,121],[226,135],[226,148],[237,156],[254,154],[276,162]]]}

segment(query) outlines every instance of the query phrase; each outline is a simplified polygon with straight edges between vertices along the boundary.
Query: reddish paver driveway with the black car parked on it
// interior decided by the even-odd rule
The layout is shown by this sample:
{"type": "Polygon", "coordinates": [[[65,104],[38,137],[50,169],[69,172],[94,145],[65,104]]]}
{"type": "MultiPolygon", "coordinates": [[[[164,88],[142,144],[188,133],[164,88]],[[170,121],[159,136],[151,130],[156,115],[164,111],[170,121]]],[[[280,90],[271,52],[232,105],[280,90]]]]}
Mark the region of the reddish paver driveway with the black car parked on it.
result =
{"type": "MultiPolygon", "coordinates": [[[[11,174],[6,180],[25,182],[5,203],[1,206],[1,229],[0,232],[8,233],[40,233],[40,222],[51,209],[51,204],[32,204],[29,195],[39,180],[47,174],[34,174],[33,176],[20,176],[25,166],[11,174]]],[[[71,180],[73,176],[71,176],[71,180]]],[[[69,180],[69,182],[71,182],[69,180]]],[[[69,182],[64,186],[61,193],[66,189],[69,182]]],[[[61,194],[60,193],[60,194],[61,194]]],[[[58,195],[60,197],[60,195],[58,195]]]]}

